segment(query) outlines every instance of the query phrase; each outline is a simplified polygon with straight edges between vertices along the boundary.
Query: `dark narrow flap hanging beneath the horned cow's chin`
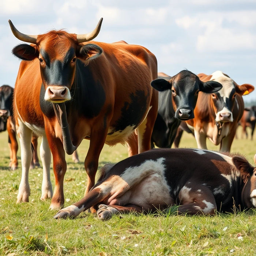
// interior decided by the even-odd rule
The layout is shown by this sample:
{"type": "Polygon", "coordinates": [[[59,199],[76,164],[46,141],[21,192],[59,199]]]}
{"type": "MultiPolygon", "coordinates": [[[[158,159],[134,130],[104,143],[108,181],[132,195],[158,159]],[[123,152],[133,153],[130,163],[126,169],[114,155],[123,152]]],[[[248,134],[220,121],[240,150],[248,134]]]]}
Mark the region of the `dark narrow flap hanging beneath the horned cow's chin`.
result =
{"type": "Polygon", "coordinates": [[[68,155],[71,155],[74,153],[77,147],[73,145],[71,140],[70,131],[68,127],[66,105],[65,103],[53,103],[53,109],[61,127],[64,150],[68,155]]]}

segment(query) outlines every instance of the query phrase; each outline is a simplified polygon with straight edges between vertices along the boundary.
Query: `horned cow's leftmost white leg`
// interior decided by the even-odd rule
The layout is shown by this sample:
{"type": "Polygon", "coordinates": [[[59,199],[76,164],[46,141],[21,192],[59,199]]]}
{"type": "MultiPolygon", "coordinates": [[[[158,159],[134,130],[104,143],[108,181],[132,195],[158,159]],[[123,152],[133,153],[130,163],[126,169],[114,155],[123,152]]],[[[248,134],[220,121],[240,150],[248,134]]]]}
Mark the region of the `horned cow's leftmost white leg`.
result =
{"type": "Polygon", "coordinates": [[[31,138],[32,131],[18,119],[17,133],[20,140],[20,157],[22,174],[17,196],[17,203],[29,202],[29,166],[32,160],[31,138]]]}

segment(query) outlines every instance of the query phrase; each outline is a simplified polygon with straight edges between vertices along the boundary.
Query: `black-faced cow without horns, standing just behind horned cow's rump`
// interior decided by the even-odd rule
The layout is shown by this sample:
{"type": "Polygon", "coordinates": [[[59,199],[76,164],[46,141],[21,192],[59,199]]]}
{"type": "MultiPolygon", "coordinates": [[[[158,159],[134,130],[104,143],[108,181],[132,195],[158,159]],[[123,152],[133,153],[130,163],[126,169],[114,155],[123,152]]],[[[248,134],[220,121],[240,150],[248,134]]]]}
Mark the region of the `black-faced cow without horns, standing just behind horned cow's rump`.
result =
{"type": "Polygon", "coordinates": [[[151,85],[161,91],[158,94],[158,114],[151,136],[151,147],[170,148],[181,120],[194,118],[194,109],[199,91],[215,93],[222,85],[215,81],[206,83],[188,70],[170,77],[158,73],[151,85]]]}

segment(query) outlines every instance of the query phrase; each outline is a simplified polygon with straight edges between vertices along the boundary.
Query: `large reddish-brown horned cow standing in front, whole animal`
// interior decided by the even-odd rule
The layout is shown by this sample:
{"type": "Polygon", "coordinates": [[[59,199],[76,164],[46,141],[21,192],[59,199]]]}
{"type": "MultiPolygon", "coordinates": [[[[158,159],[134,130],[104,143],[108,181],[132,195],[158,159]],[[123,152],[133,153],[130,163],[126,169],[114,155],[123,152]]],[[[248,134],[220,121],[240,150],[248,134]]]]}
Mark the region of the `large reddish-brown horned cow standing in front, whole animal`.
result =
{"type": "Polygon", "coordinates": [[[12,33],[30,42],[13,49],[20,63],[14,106],[20,139],[22,178],[17,202],[29,201],[29,163],[32,132],[42,136],[43,184],[41,199],[52,197],[50,208],[64,204],[65,152],[72,154],[83,139],[90,140],[84,161],[88,180],[85,194],[95,184],[99,154],[104,143],[128,143],[129,154],[150,149],[157,116],[157,60],[139,45],[90,41],[101,28],[88,34],[49,31],[20,33],[9,20],[12,33]],[[135,130],[138,143],[133,138],[135,130]],[[48,146],[49,142],[49,146],[48,146]],[[53,155],[55,188],[52,196],[50,161],[53,155]]]}

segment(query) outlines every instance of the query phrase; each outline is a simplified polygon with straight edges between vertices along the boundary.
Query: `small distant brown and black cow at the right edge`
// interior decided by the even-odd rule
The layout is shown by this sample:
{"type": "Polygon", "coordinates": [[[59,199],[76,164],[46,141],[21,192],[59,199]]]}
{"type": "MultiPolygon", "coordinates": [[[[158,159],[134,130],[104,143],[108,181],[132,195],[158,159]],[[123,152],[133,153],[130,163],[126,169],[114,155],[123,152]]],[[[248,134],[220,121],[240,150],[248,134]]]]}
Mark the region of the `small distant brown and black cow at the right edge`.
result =
{"type": "Polygon", "coordinates": [[[248,133],[246,128],[251,128],[251,140],[253,139],[253,133],[256,124],[256,106],[251,106],[244,109],[244,113],[238,125],[242,126],[242,135],[245,134],[246,139],[248,138],[248,133]]]}

